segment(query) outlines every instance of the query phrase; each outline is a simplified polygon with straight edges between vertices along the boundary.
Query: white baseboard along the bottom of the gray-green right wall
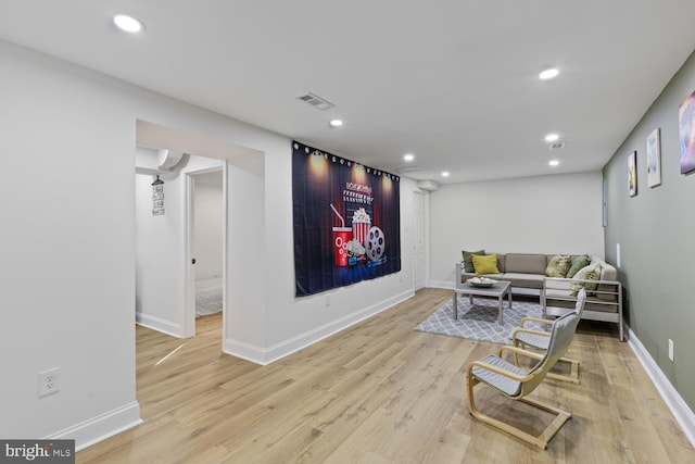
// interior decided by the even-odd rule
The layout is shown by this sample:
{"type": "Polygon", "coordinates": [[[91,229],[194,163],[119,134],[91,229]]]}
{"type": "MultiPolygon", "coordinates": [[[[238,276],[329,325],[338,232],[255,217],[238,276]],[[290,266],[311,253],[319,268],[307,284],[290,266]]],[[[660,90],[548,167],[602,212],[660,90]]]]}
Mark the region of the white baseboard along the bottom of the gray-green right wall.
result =
{"type": "Polygon", "coordinates": [[[664,372],[654,362],[654,358],[652,358],[630,327],[628,327],[628,344],[632,348],[642,367],[644,367],[667,406],[671,410],[673,417],[683,429],[683,434],[685,434],[691,444],[695,447],[695,414],[675,391],[669,379],[664,375],[664,372]]]}

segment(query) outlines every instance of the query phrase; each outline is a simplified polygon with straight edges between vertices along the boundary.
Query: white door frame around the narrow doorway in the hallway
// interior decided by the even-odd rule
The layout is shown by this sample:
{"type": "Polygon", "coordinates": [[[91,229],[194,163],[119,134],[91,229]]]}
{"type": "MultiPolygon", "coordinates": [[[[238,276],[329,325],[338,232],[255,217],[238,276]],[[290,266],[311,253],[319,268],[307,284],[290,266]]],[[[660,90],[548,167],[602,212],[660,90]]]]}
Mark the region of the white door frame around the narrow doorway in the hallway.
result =
{"type": "Polygon", "coordinates": [[[195,268],[193,267],[193,205],[194,205],[194,177],[199,174],[222,172],[223,196],[223,231],[222,231],[222,301],[223,301],[223,327],[227,313],[227,170],[226,162],[216,166],[181,171],[184,174],[184,337],[195,336],[195,268]]]}

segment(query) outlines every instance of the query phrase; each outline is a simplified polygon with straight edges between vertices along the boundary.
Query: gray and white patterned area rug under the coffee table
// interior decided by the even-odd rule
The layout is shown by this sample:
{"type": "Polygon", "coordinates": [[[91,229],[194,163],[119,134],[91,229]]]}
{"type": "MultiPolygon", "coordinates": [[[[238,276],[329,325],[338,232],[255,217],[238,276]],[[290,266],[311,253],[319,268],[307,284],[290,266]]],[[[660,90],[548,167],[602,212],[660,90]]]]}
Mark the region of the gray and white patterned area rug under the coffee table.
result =
{"type": "MultiPolygon", "coordinates": [[[[475,298],[471,305],[468,297],[459,296],[457,321],[454,319],[452,299],[448,299],[442,308],[418,324],[415,330],[509,344],[509,335],[519,327],[521,318],[543,317],[543,309],[540,303],[533,301],[513,301],[511,309],[508,304],[505,298],[504,325],[501,325],[497,322],[500,314],[497,299],[475,298]]],[[[534,323],[529,328],[545,330],[546,326],[534,323]]]]}

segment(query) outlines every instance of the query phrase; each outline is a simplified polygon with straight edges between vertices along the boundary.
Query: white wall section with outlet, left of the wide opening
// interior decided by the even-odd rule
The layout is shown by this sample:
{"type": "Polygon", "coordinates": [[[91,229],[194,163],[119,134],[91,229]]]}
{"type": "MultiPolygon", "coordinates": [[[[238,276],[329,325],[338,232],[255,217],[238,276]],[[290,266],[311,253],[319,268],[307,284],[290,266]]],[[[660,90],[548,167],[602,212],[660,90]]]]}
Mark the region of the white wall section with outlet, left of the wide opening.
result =
{"type": "Polygon", "coordinates": [[[2,41],[0,75],[0,437],[79,446],[139,421],[132,100],[2,41]]]}

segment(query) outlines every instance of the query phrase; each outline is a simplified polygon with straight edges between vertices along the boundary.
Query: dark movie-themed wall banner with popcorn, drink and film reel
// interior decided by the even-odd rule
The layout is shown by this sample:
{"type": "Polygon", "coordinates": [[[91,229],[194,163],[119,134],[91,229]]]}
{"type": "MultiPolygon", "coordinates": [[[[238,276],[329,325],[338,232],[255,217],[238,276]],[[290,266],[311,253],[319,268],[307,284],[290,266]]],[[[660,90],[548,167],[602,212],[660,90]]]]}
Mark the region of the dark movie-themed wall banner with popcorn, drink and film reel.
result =
{"type": "Polygon", "coordinates": [[[298,297],[401,271],[400,180],[292,142],[298,297]]]}

